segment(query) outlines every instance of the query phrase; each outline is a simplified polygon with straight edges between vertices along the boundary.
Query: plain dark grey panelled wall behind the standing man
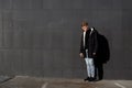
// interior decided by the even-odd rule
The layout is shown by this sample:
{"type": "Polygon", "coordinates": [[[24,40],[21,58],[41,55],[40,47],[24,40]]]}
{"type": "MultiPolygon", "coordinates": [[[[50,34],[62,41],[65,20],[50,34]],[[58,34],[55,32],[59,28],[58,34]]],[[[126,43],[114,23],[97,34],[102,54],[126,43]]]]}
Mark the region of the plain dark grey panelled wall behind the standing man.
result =
{"type": "Polygon", "coordinates": [[[131,0],[0,0],[0,75],[84,78],[80,23],[103,34],[105,78],[132,79],[131,0]]]}

